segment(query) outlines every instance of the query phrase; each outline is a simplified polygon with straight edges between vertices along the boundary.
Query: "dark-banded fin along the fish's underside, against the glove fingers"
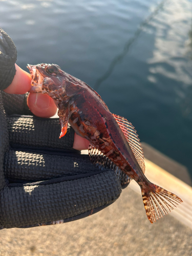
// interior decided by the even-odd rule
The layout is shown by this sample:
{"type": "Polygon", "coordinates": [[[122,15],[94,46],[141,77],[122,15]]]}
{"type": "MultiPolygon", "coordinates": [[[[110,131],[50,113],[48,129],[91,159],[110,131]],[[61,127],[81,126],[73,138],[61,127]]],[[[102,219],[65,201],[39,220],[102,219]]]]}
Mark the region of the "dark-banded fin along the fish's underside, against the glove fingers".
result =
{"type": "Polygon", "coordinates": [[[105,155],[103,155],[103,153],[100,152],[100,150],[98,150],[98,148],[96,148],[91,143],[89,145],[88,153],[92,163],[98,164],[98,165],[100,164],[107,169],[113,169],[117,177],[119,178],[121,185],[130,183],[131,178],[128,175],[126,175],[124,172],[122,172],[122,170],[116,164],[114,164],[109,159],[109,157],[106,157],[105,155]]]}

